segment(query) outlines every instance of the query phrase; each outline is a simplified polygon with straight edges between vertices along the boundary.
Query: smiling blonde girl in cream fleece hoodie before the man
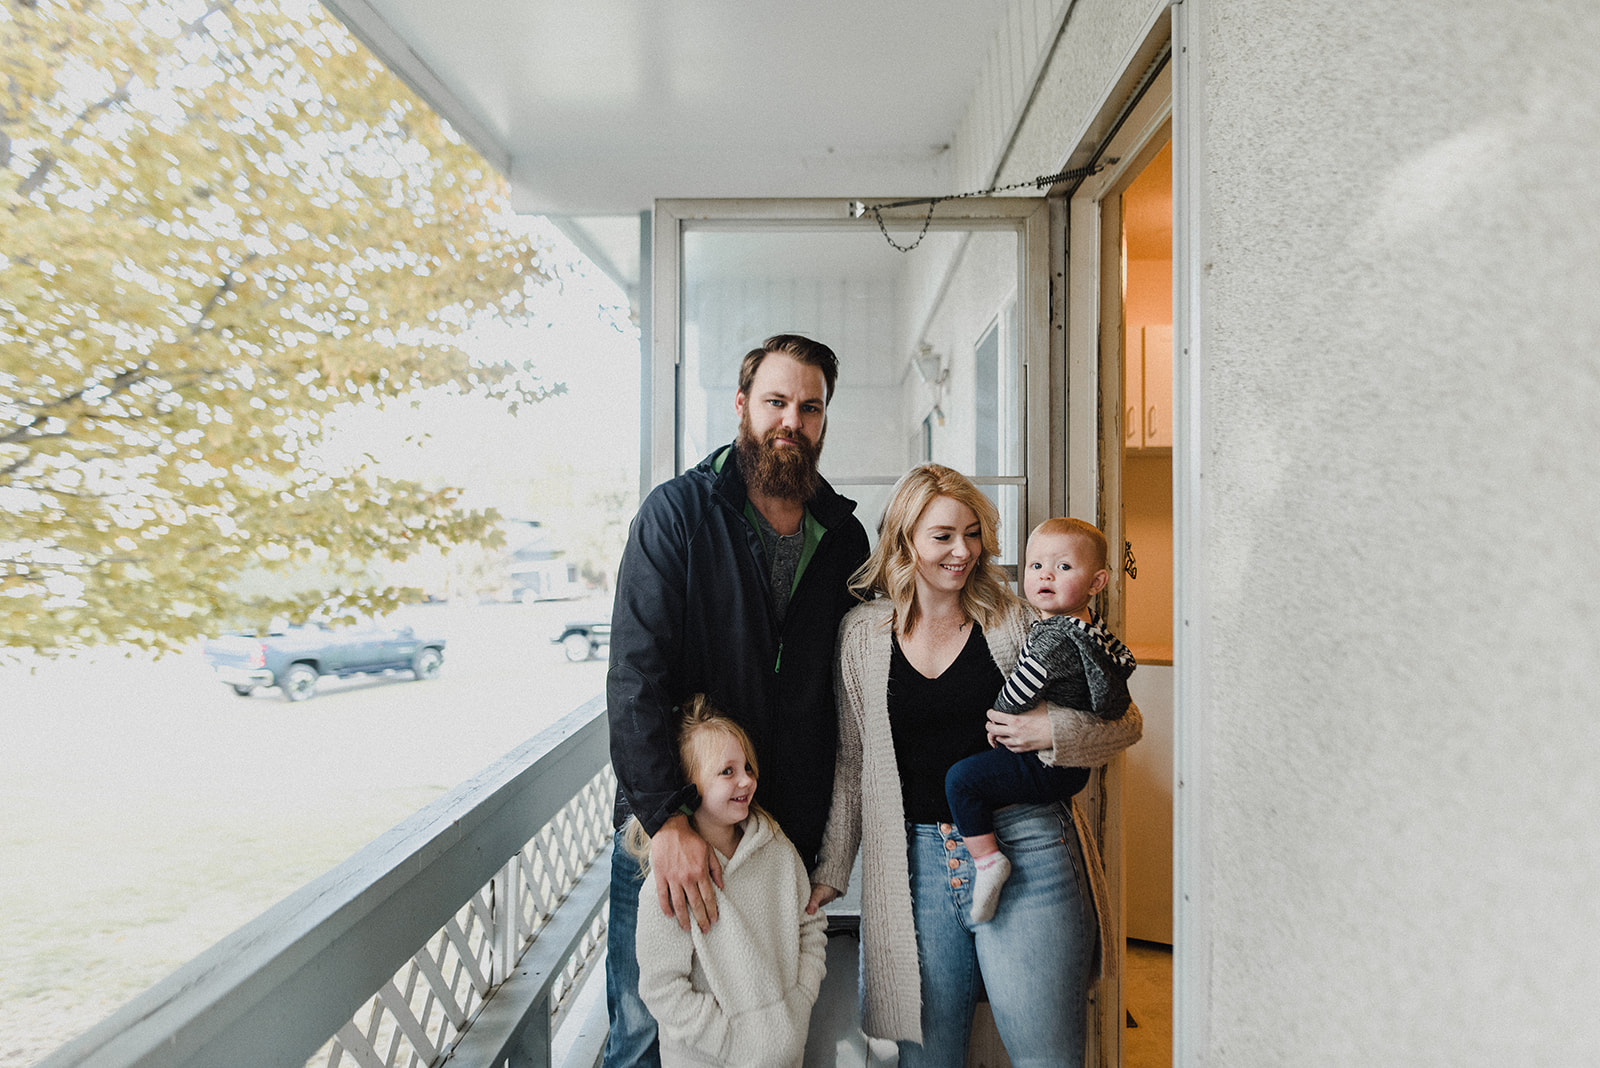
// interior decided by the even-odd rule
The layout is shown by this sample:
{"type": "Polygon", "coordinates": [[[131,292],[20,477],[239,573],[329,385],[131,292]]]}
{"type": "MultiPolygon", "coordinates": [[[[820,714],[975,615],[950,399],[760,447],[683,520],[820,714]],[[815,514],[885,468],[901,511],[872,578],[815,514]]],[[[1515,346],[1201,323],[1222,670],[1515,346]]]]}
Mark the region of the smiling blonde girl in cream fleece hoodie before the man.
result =
{"type": "MultiPolygon", "coordinates": [[[[699,790],[690,823],[720,854],[717,923],[690,931],[661,911],[646,878],[638,897],[638,994],[661,1026],[661,1065],[798,1068],[822,985],[827,921],[806,915],[800,854],[755,804],[755,748],[733,719],[693,697],[678,759],[699,790]]],[[[638,823],[629,847],[648,865],[638,823]]]]}

